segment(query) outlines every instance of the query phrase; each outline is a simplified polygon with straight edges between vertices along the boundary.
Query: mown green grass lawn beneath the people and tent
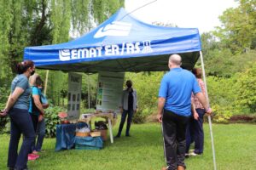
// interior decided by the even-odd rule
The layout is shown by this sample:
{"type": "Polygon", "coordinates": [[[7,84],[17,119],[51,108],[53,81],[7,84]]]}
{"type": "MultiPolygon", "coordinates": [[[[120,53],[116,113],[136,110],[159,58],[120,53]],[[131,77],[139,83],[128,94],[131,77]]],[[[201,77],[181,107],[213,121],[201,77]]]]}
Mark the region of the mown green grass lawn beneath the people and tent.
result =
{"type": "MultiPolygon", "coordinates": [[[[113,128],[117,132],[118,126],[113,128]]],[[[256,169],[256,125],[214,124],[218,170],[256,169]]],[[[64,150],[55,152],[55,139],[45,139],[44,153],[37,161],[29,161],[30,169],[84,170],[158,170],[165,165],[160,124],[131,126],[131,138],[122,136],[113,144],[106,142],[102,150],[64,150]]],[[[205,124],[203,156],[186,159],[188,170],[213,169],[211,139],[205,124]]],[[[0,135],[0,169],[6,169],[9,135],[0,135]]]]}

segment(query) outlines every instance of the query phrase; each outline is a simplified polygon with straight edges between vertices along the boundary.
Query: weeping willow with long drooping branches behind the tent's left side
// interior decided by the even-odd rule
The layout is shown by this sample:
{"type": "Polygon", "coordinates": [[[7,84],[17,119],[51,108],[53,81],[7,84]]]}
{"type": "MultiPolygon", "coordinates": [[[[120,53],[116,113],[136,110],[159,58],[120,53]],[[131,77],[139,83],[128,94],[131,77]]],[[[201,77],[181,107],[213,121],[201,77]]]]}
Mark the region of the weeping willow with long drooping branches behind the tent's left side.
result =
{"type": "MultiPolygon", "coordinates": [[[[25,47],[67,42],[72,32],[90,31],[122,6],[124,0],[0,0],[0,82],[10,83],[25,47]]],[[[66,79],[61,71],[49,73],[54,104],[60,104],[66,79]]]]}

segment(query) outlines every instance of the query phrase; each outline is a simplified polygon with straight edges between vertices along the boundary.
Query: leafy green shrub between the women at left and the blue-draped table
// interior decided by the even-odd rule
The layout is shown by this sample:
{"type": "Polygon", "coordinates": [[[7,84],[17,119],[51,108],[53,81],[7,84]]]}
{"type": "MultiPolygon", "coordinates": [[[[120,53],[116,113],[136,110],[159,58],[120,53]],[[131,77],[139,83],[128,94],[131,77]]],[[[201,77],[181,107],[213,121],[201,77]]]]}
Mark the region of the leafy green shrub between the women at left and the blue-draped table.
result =
{"type": "Polygon", "coordinates": [[[56,125],[60,124],[58,113],[63,110],[63,108],[57,106],[50,106],[45,110],[46,137],[54,138],[56,136],[56,125]]]}

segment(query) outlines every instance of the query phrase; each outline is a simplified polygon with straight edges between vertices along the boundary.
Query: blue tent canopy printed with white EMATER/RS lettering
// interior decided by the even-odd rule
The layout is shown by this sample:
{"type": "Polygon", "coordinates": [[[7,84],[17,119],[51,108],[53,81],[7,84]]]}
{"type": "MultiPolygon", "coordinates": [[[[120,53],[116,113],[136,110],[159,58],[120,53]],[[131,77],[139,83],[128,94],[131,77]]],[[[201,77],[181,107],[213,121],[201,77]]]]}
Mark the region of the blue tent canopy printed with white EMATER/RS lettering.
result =
{"type": "Polygon", "coordinates": [[[25,48],[38,68],[61,71],[166,71],[170,54],[192,69],[201,51],[198,29],[152,26],[124,8],[71,42],[25,48]]]}

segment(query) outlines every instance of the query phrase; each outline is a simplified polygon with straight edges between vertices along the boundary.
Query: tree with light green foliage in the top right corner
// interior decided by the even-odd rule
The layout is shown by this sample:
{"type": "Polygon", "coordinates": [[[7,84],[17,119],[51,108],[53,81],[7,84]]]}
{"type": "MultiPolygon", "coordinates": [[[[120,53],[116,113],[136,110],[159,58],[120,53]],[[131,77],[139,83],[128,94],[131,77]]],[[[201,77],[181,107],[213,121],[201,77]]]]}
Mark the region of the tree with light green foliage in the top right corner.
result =
{"type": "Polygon", "coordinates": [[[222,26],[215,31],[234,54],[256,48],[256,0],[236,1],[237,8],[228,8],[219,16],[222,26]]]}

